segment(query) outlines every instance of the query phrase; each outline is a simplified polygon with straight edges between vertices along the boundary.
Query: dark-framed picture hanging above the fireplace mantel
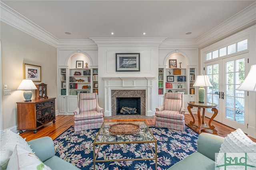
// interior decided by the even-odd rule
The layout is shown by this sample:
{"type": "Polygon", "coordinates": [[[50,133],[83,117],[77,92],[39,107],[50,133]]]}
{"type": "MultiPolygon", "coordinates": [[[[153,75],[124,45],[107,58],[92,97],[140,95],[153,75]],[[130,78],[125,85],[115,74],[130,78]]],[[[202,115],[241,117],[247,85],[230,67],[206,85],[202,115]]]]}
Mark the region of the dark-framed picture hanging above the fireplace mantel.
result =
{"type": "Polygon", "coordinates": [[[116,53],[116,71],[140,71],[140,53],[116,53]]]}

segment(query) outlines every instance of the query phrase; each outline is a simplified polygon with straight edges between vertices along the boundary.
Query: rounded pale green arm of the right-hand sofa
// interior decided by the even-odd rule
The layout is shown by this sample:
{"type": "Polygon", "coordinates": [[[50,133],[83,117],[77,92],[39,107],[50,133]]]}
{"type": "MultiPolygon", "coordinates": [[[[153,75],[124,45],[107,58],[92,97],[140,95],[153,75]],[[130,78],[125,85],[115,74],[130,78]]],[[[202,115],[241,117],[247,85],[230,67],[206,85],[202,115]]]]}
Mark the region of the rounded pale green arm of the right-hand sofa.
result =
{"type": "Polygon", "coordinates": [[[220,151],[223,141],[224,137],[210,133],[201,133],[198,137],[197,151],[211,160],[215,160],[215,153],[220,151]]]}

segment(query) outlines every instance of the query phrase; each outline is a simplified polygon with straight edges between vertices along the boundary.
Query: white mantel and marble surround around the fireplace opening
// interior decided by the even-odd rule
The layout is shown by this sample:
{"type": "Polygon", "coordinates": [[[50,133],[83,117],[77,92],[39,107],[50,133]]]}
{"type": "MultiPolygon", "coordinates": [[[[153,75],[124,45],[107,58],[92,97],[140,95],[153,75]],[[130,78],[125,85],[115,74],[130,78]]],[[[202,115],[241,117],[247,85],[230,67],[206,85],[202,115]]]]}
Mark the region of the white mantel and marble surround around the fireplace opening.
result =
{"type": "Polygon", "coordinates": [[[141,115],[153,116],[152,80],[155,77],[104,77],[104,115],[116,115],[116,97],[140,97],[141,115]]]}

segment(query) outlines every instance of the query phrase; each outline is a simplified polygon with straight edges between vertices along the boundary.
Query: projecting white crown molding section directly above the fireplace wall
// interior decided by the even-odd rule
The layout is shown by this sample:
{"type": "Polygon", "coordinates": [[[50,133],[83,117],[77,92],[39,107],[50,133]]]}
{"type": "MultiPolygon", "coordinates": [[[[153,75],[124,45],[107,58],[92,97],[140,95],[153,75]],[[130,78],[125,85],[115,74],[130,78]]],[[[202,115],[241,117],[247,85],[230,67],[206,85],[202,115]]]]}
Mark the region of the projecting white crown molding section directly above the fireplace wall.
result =
{"type": "Polygon", "coordinates": [[[158,47],[166,38],[90,38],[98,47],[158,47]]]}

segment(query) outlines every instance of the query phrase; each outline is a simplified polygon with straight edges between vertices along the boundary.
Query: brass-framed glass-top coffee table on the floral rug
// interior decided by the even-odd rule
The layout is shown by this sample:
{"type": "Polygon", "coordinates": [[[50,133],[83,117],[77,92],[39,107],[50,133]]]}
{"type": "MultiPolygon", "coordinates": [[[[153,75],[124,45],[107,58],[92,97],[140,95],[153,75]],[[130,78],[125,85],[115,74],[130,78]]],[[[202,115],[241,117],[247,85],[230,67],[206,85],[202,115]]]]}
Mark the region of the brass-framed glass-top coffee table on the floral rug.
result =
{"type": "Polygon", "coordinates": [[[93,142],[93,169],[95,170],[95,163],[96,162],[113,162],[113,161],[126,161],[126,160],[155,160],[156,169],[157,169],[157,141],[150,129],[148,128],[148,125],[144,121],[127,121],[122,123],[136,123],[140,125],[140,132],[134,134],[134,135],[142,135],[144,139],[141,141],[117,141],[117,136],[127,136],[127,135],[116,135],[116,141],[108,141],[108,136],[114,136],[115,134],[112,134],[108,131],[109,125],[112,125],[114,123],[120,123],[120,122],[104,122],[102,123],[102,126],[100,127],[100,130],[98,131],[94,142],[93,142]],[[150,134],[146,134],[146,132],[150,132],[150,134]],[[98,139],[98,137],[102,136],[102,139],[98,139]],[[150,135],[150,136],[148,136],[150,135]],[[149,139],[150,138],[150,139],[149,139]],[[106,139],[106,141],[105,141],[106,139]],[[134,159],[112,159],[112,160],[96,160],[98,157],[98,152],[100,151],[101,145],[111,145],[111,144],[132,144],[132,143],[148,143],[152,154],[154,155],[154,158],[134,158],[134,159]],[[152,147],[150,146],[150,143],[155,143],[155,152],[153,151],[152,147]],[[99,148],[97,152],[95,153],[95,145],[99,145],[99,148]]]}

